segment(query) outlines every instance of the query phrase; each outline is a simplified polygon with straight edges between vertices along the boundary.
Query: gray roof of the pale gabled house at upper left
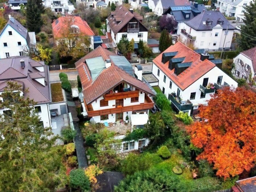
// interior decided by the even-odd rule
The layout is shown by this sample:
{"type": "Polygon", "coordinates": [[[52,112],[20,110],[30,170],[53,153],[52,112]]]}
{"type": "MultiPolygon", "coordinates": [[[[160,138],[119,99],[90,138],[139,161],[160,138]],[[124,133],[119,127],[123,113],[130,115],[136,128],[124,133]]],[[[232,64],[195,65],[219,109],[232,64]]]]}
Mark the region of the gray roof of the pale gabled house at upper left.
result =
{"type": "Polygon", "coordinates": [[[8,25],[10,25],[16,32],[18,32],[22,37],[24,37],[27,41],[27,45],[30,46],[30,37],[28,34],[28,30],[24,28],[22,24],[20,24],[15,18],[8,20],[8,22],[5,24],[5,27],[2,29],[0,36],[8,25]],[[12,20],[14,22],[12,22],[12,20]]]}

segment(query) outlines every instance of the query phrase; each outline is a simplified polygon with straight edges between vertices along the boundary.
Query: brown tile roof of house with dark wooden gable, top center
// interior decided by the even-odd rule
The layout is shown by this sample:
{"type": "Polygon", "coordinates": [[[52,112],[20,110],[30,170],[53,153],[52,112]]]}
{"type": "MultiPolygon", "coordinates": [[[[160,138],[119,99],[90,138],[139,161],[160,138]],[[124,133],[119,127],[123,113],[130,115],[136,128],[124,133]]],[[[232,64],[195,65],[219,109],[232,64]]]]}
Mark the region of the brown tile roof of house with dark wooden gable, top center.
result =
{"type": "Polygon", "coordinates": [[[108,21],[109,21],[108,24],[111,30],[115,34],[118,33],[119,30],[121,30],[132,18],[136,18],[140,22],[140,24],[143,25],[143,23],[140,21],[140,20],[143,20],[143,16],[141,16],[137,12],[133,12],[132,14],[129,10],[127,10],[122,5],[120,5],[119,7],[116,7],[115,12],[113,13],[114,13],[113,18],[111,17],[111,15],[108,17],[108,21]],[[114,18],[117,18],[117,21],[120,21],[120,22],[116,24],[114,18]]]}

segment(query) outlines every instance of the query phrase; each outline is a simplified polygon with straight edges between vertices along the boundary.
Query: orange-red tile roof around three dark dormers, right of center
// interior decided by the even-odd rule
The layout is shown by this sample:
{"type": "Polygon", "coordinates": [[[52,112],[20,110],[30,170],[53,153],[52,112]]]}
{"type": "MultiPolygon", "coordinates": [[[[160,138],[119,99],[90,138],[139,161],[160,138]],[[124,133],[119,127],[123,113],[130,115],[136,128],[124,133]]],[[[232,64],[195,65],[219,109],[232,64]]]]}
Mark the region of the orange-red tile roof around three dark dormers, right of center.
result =
{"type": "Polygon", "coordinates": [[[192,49],[188,48],[181,42],[177,42],[176,44],[168,47],[163,53],[158,55],[153,62],[156,66],[162,70],[176,85],[178,85],[182,90],[189,87],[189,85],[193,84],[196,80],[198,80],[205,73],[210,71],[216,65],[210,62],[208,59],[204,61],[200,60],[200,54],[196,53],[192,49]],[[175,52],[178,53],[173,58],[185,57],[185,62],[192,62],[191,66],[184,70],[178,76],[174,74],[174,69],[170,70],[168,68],[169,61],[166,63],[162,63],[162,54],[167,52],[175,52]]]}

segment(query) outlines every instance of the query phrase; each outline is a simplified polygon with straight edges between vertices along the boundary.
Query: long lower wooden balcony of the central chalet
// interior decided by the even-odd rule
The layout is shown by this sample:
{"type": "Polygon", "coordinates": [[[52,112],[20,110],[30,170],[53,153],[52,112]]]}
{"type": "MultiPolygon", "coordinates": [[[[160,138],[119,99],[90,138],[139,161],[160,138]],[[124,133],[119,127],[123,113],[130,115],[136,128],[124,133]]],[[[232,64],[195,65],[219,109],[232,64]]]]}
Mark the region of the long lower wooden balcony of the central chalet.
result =
{"type": "Polygon", "coordinates": [[[141,103],[139,105],[115,107],[115,108],[102,109],[102,110],[93,110],[91,104],[85,105],[85,107],[86,107],[88,116],[92,117],[92,116],[107,115],[107,114],[112,114],[112,113],[121,113],[121,112],[127,112],[127,111],[151,109],[154,107],[154,102],[148,96],[146,96],[144,103],[141,103]]]}

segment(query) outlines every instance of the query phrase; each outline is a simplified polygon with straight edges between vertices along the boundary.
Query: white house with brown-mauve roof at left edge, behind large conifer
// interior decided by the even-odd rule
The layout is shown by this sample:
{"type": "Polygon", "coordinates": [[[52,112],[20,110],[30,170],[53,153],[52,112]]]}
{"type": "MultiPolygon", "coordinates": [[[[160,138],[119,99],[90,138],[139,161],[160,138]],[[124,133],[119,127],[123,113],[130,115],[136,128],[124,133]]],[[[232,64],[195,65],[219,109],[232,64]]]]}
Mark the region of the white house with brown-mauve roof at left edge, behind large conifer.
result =
{"type": "MultiPolygon", "coordinates": [[[[0,99],[1,93],[7,86],[7,82],[16,82],[22,89],[29,89],[29,92],[21,92],[25,98],[34,99],[37,104],[41,123],[44,127],[51,126],[49,104],[51,103],[51,91],[49,80],[49,69],[44,61],[35,61],[29,57],[16,56],[0,59],[0,99]]],[[[0,109],[0,113],[10,112],[6,108],[0,109]]]]}

